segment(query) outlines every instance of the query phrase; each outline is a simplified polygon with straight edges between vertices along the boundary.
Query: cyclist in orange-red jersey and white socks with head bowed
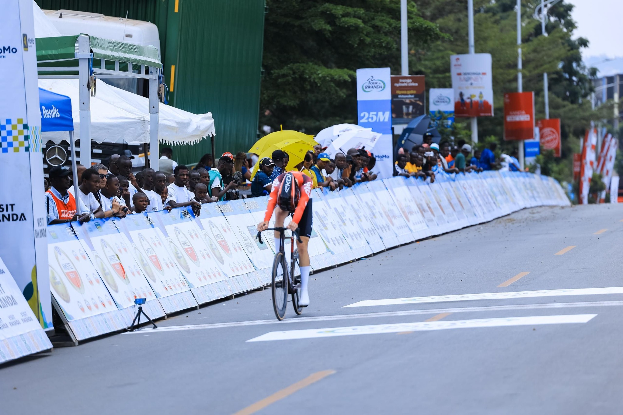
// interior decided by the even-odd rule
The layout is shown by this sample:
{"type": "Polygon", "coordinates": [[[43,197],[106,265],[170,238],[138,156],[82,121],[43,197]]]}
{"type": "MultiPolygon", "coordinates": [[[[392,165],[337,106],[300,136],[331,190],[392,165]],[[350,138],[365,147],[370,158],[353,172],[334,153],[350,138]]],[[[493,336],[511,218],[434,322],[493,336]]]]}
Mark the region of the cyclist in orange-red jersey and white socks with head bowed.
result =
{"type": "MultiPolygon", "coordinates": [[[[307,284],[310,277],[310,256],[307,244],[312,235],[312,178],[302,172],[285,172],[273,181],[269,204],[266,208],[264,221],[257,225],[258,231],[269,227],[269,220],[275,211],[275,227],[283,226],[283,221],[292,215],[288,223],[289,230],[297,230],[301,242],[297,241],[298,266],[301,270],[301,295],[298,300],[300,307],[310,304],[307,284]],[[275,208],[277,207],[277,208],[275,208]]],[[[280,233],[275,231],[275,249],[280,249],[280,233]]]]}

